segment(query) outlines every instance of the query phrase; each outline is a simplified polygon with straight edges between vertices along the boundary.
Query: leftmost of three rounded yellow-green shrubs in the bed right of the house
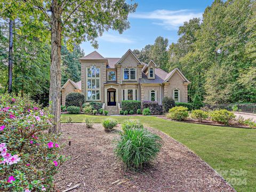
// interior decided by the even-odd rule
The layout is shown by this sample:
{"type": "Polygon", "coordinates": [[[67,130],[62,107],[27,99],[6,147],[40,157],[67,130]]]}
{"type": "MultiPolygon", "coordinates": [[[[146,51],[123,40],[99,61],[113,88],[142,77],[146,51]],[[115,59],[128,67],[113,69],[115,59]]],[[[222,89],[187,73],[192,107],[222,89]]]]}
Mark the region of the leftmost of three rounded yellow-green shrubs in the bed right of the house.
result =
{"type": "Polygon", "coordinates": [[[169,109],[169,113],[166,115],[166,117],[177,121],[183,121],[188,117],[188,108],[182,106],[173,107],[169,109]]]}

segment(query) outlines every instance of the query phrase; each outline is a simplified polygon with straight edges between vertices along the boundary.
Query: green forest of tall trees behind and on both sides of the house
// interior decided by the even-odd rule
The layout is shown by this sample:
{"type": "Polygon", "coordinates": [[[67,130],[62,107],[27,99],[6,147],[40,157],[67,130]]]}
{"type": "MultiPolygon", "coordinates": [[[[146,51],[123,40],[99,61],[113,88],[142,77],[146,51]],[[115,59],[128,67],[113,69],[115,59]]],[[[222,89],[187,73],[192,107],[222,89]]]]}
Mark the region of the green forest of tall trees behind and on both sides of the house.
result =
{"type": "MultiPolygon", "coordinates": [[[[202,20],[194,18],[179,27],[177,43],[157,37],[153,45],[134,50],[143,62],[153,59],[160,68],[178,67],[191,81],[189,101],[195,95],[210,104],[256,102],[256,2],[216,0],[206,7],[202,20]]],[[[50,41],[28,38],[14,20],[13,92],[30,94],[48,102],[50,81],[50,41]],[[19,45],[19,46],[18,46],[19,45]]],[[[6,92],[8,34],[6,22],[0,26],[0,93],[6,92]]],[[[84,55],[77,45],[61,48],[62,84],[81,78],[78,58],[84,55]]]]}

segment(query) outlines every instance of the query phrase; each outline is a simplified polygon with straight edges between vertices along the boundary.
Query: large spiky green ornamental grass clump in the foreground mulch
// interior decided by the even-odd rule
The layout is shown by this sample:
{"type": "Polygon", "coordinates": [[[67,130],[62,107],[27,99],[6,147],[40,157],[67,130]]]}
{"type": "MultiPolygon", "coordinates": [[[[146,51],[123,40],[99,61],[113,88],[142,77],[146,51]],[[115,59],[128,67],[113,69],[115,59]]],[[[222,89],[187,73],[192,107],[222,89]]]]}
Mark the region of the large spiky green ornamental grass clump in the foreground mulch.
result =
{"type": "Polygon", "coordinates": [[[140,169],[157,156],[161,138],[145,129],[127,129],[116,141],[115,154],[128,169],[140,169]]]}

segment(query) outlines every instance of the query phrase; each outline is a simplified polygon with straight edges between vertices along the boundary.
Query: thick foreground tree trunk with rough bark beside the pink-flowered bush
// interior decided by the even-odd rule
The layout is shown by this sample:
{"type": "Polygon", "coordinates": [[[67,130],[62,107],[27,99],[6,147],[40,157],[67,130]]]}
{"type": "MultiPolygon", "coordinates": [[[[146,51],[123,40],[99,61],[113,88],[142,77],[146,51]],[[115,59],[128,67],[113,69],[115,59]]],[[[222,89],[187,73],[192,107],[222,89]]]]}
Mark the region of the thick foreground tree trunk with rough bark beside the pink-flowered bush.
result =
{"type": "Polygon", "coordinates": [[[61,91],[61,6],[57,0],[52,0],[51,15],[51,68],[50,68],[50,110],[54,115],[55,125],[49,130],[52,133],[60,132],[60,91],[61,91]]]}

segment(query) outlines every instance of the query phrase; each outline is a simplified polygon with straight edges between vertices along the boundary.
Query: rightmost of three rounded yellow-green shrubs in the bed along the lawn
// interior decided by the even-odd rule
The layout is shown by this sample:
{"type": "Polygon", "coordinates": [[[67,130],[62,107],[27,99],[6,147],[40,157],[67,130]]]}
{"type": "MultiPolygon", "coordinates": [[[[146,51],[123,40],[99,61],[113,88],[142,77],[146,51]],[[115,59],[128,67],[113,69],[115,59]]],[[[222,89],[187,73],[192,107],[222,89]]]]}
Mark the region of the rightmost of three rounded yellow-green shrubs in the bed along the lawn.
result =
{"type": "Polygon", "coordinates": [[[216,121],[218,123],[223,123],[225,125],[228,125],[229,121],[235,118],[235,115],[226,109],[221,109],[221,110],[212,111],[211,118],[212,118],[212,121],[216,121]]]}

